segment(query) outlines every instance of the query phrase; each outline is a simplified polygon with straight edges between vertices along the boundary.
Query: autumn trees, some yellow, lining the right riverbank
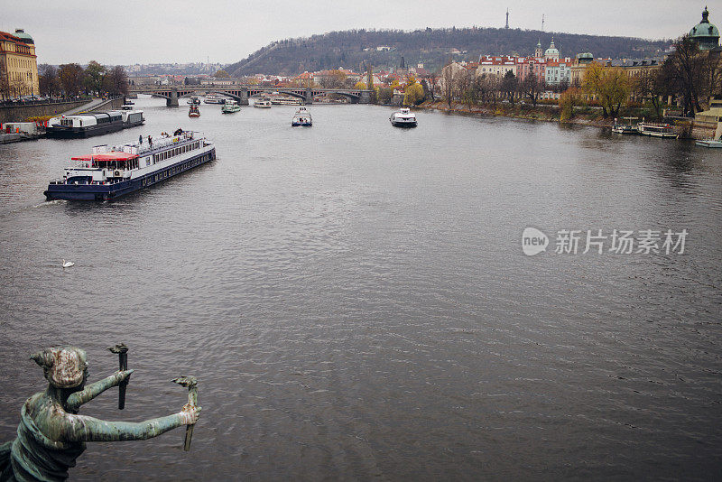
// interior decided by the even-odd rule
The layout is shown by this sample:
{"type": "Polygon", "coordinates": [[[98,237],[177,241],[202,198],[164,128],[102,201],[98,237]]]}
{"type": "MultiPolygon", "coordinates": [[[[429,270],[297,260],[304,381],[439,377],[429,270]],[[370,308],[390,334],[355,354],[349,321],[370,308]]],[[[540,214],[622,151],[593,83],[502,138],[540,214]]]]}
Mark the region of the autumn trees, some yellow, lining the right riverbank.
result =
{"type": "Polygon", "coordinates": [[[630,70],[593,61],[585,68],[581,82],[561,82],[546,85],[543,79],[528,75],[520,80],[513,72],[504,77],[483,74],[476,76],[452,62],[422,79],[425,99],[439,97],[451,107],[453,102],[469,106],[483,103],[508,102],[514,107],[524,100],[536,107],[542,93],[560,94],[558,104],[561,119],[574,115],[574,107],[600,107],[603,117],[616,117],[625,107],[639,107],[646,103],[653,116],[661,118],[663,107],[680,104],[685,116],[703,110],[713,96],[722,96],[722,59],[715,51],[699,51],[689,36],[674,43],[674,50],[658,68],[630,70]],[[671,101],[671,102],[670,102],[671,101]]]}

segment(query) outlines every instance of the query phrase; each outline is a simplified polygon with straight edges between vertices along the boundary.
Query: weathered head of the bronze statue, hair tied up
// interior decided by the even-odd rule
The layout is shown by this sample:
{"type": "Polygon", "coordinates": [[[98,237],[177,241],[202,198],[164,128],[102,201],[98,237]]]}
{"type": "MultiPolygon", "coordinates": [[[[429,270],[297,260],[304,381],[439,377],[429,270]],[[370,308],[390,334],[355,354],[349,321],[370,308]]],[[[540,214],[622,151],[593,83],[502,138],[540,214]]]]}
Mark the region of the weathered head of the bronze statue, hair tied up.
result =
{"type": "Polygon", "coordinates": [[[31,356],[42,366],[45,379],[57,388],[82,387],[85,383],[88,362],[85,350],[74,347],[45,348],[31,356]]]}

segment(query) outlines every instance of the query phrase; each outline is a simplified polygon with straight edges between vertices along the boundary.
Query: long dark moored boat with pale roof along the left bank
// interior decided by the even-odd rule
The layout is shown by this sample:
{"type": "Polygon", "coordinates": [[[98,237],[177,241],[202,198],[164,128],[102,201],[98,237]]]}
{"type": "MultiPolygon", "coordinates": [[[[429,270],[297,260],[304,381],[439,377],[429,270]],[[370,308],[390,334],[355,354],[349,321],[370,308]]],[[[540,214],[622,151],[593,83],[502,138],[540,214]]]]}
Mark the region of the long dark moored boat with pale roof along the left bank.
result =
{"type": "Polygon", "coordinates": [[[116,132],[145,122],[142,110],[112,110],[72,116],[53,117],[48,122],[48,137],[91,137],[116,132]]]}

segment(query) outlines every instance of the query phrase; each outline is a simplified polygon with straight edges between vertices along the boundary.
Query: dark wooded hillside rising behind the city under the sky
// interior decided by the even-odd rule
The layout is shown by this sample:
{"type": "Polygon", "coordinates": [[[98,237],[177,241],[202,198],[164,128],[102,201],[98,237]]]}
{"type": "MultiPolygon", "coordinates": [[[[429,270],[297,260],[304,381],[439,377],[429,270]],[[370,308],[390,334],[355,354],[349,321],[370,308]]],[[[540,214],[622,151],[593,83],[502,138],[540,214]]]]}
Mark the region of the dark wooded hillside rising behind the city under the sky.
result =
{"type": "Polygon", "coordinates": [[[539,40],[547,49],[552,35],[561,57],[574,57],[583,51],[590,51],[595,57],[613,59],[649,57],[661,55],[671,44],[669,40],[649,41],[520,29],[351,30],[273,42],[246,59],[227,66],[226,70],[232,76],[256,73],[296,75],[304,70],[338,67],[361,70],[364,62],[370,62],[378,69],[399,67],[402,57],[406,65],[423,62],[426,69],[436,70],[449,57],[477,60],[479,54],[532,55],[539,40]],[[391,50],[377,51],[379,46],[388,46],[391,50]],[[453,49],[461,53],[449,53],[453,49]]]}

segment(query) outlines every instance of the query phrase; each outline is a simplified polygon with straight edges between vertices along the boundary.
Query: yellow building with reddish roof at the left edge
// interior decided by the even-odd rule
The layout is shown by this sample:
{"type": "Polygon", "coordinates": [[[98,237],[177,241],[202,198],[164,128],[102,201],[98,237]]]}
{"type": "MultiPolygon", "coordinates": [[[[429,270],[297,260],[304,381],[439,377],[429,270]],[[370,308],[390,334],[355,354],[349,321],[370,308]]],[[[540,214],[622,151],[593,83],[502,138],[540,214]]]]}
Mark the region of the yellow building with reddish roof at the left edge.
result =
{"type": "Polygon", "coordinates": [[[0,32],[0,97],[37,96],[38,59],[35,42],[23,29],[0,32]]]}

